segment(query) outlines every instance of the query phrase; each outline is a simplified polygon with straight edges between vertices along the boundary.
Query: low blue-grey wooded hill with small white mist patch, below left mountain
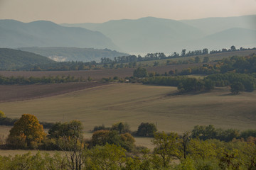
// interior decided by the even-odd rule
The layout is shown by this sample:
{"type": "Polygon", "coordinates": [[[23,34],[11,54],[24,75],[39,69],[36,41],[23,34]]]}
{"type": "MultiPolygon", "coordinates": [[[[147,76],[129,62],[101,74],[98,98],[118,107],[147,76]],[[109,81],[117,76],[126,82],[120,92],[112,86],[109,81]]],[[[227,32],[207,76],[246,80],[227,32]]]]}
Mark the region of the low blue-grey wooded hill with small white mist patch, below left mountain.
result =
{"type": "Polygon", "coordinates": [[[21,47],[23,51],[33,52],[38,55],[50,57],[55,61],[82,61],[90,62],[95,60],[100,62],[101,57],[113,59],[128,55],[126,53],[112,50],[98,50],[93,48],[78,48],[78,47],[21,47]]]}

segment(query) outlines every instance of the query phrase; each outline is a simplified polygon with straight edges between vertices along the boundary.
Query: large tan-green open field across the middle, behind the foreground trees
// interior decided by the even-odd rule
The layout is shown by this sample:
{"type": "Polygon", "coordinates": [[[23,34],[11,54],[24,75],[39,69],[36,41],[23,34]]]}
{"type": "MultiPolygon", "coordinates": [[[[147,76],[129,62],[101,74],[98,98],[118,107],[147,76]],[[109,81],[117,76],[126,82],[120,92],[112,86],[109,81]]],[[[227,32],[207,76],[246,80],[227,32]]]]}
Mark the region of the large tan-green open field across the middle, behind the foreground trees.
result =
{"type": "Polygon", "coordinates": [[[68,94],[0,103],[10,118],[36,115],[40,121],[81,120],[85,131],[95,125],[156,123],[159,131],[182,133],[195,125],[239,130],[256,128],[256,93],[231,95],[228,88],[209,93],[176,95],[170,86],[107,84],[68,94]]]}

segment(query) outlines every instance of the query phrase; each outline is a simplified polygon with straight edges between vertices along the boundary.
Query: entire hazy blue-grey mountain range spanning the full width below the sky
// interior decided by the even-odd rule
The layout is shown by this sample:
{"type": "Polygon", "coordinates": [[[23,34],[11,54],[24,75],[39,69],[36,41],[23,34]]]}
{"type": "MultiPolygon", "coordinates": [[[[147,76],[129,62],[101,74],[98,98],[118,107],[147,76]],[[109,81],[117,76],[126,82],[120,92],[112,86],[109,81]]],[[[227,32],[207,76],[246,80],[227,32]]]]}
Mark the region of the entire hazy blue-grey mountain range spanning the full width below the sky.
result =
{"type": "Polygon", "coordinates": [[[134,54],[256,47],[255,21],[256,15],[182,21],[145,17],[61,25],[0,20],[0,47],[107,48],[134,54]]]}

